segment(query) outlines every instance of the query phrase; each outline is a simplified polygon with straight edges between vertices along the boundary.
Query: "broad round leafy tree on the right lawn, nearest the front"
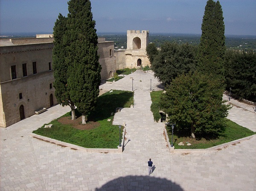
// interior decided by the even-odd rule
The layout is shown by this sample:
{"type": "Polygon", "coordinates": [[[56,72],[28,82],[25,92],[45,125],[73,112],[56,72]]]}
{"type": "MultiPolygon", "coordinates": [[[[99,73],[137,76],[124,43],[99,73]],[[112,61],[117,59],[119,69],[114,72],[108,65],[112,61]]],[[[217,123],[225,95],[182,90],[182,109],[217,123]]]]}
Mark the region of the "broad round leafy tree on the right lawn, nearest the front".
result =
{"type": "Polygon", "coordinates": [[[218,79],[189,72],[172,81],[162,94],[160,105],[178,132],[191,137],[215,137],[224,130],[229,105],[222,101],[218,79]]]}

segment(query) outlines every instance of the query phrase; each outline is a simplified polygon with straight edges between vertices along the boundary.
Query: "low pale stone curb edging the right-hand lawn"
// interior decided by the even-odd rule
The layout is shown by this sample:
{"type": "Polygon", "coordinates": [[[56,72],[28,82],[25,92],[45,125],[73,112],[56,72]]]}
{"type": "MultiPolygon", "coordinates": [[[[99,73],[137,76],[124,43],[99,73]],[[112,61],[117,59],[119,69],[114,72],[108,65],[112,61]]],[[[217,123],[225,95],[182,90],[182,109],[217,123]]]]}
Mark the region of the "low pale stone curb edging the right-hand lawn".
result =
{"type": "Polygon", "coordinates": [[[171,147],[170,145],[170,141],[169,141],[169,137],[168,137],[168,134],[167,134],[167,131],[166,131],[166,128],[164,128],[164,133],[165,133],[165,136],[166,136],[166,140],[167,140],[167,143],[168,143],[168,146],[169,146],[169,149],[170,149],[170,153],[188,153],[188,152],[194,152],[194,151],[212,151],[212,150],[221,150],[221,149],[224,149],[226,148],[227,146],[229,145],[236,145],[237,143],[240,143],[241,141],[244,141],[244,140],[249,140],[251,139],[252,137],[255,137],[256,134],[254,135],[251,135],[249,137],[244,137],[244,138],[241,138],[241,139],[238,139],[238,140],[233,140],[231,142],[228,142],[228,143],[223,143],[221,145],[216,145],[216,146],[213,146],[213,147],[210,147],[210,148],[195,148],[195,149],[174,149],[174,146],[171,147]]]}

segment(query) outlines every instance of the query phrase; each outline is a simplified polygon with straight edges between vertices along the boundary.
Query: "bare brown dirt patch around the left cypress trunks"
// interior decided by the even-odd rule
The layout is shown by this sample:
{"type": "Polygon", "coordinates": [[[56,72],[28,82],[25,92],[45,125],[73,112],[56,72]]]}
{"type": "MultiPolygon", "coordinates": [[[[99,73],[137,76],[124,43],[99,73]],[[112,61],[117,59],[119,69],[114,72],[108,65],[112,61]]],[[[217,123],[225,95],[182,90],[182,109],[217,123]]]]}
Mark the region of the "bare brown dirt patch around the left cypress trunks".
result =
{"type": "Polygon", "coordinates": [[[94,129],[99,127],[99,122],[89,121],[86,124],[81,124],[82,117],[78,117],[75,120],[71,120],[71,117],[61,117],[58,120],[59,123],[65,124],[65,125],[72,125],[73,128],[79,129],[79,130],[88,130],[88,129],[94,129]]]}

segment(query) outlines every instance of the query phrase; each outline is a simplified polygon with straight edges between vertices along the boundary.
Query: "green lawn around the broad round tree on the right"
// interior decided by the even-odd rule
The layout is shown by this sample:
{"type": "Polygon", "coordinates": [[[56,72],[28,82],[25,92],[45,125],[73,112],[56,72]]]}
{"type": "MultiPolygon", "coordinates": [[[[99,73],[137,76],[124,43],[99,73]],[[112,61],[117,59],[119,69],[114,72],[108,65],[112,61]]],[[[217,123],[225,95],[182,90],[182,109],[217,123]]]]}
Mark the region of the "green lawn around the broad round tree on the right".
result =
{"type": "MultiPolygon", "coordinates": [[[[163,91],[153,91],[151,92],[151,100],[152,100],[152,105],[155,104],[154,108],[157,108],[157,103],[160,100],[160,95],[163,93],[163,91]]],[[[151,107],[152,111],[152,107],[151,107]]],[[[152,111],[153,112],[153,111],[152,111]]],[[[156,116],[157,113],[159,113],[159,110],[154,109],[153,115],[156,116]],[[155,114],[154,114],[155,112],[155,114]]],[[[225,119],[226,123],[226,130],[224,132],[223,136],[218,137],[218,139],[213,139],[213,140],[206,140],[206,139],[201,139],[201,140],[196,140],[192,139],[190,137],[178,137],[175,135],[175,131],[173,134],[173,143],[175,148],[209,148],[213,147],[216,145],[220,145],[223,143],[228,143],[233,140],[238,140],[243,137],[248,137],[250,135],[256,134],[253,131],[250,131],[247,128],[242,127],[241,125],[238,125],[234,123],[233,121],[230,121],[228,119],[225,119]],[[178,143],[183,142],[184,145],[178,145],[178,143]],[[186,143],[190,143],[190,146],[187,146],[186,143]]],[[[168,136],[169,136],[169,141],[170,143],[172,142],[172,128],[167,127],[166,128],[168,136]]]]}

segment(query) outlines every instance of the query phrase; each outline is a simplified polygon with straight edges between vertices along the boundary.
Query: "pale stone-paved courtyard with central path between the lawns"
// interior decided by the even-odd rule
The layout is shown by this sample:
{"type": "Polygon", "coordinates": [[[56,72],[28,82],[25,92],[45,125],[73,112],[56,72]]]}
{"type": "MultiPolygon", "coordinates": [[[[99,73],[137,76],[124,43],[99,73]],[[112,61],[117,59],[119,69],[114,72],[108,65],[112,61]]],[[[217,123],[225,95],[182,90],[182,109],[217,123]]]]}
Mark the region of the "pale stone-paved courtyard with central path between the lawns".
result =
{"type": "MultiPolygon", "coordinates": [[[[100,88],[131,91],[132,85],[134,108],[123,108],[113,120],[126,124],[123,153],[86,153],[30,137],[70,111],[60,105],[0,128],[0,191],[256,190],[256,137],[218,150],[169,153],[164,124],[155,123],[150,111],[150,87],[160,88],[151,72],[136,71],[100,88]],[[149,158],[154,165],[150,176],[149,158]]],[[[230,103],[234,106],[228,118],[256,131],[253,106],[233,99],[230,103]]]]}

